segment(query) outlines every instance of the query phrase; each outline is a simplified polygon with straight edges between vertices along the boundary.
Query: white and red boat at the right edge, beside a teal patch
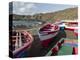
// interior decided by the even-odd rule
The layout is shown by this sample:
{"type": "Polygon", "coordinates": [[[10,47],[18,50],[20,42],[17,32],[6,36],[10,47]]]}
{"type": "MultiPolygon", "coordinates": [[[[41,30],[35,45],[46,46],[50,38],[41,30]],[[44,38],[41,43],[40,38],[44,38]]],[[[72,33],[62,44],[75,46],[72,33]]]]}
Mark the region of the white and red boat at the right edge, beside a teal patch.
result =
{"type": "Polygon", "coordinates": [[[60,30],[70,30],[73,31],[76,36],[78,36],[78,21],[77,20],[57,20],[56,25],[60,27],[60,30]]]}

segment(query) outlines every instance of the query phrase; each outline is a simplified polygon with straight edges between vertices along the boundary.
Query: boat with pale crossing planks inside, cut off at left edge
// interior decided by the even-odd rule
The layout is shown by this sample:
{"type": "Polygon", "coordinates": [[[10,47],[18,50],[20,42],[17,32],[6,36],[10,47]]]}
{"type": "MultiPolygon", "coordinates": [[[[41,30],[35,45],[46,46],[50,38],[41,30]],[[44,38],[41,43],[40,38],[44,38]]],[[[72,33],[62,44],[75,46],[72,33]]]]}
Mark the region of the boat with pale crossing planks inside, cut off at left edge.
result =
{"type": "Polygon", "coordinates": [[[31,47],[33,42],[33,37],[27,31],[12,31],[10,38],[9,50],[13,57],[21,57],[31,47]]]}

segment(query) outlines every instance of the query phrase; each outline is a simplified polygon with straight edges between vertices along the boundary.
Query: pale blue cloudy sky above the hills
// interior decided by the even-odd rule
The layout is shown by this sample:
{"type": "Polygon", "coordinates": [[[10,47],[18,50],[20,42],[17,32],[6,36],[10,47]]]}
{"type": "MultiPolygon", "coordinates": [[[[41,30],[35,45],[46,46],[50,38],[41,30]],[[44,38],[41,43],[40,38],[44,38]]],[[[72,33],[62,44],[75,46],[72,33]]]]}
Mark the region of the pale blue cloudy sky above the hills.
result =
{"type": "Polygon", "coordinates": [[[18,15],[34,15],[36,13],[49,13],[74,7],[77,6],[63,4],[13,2],[13,7],[11,4],[9,4],[9,13],[13,11],[13,14],[18,15]]]}

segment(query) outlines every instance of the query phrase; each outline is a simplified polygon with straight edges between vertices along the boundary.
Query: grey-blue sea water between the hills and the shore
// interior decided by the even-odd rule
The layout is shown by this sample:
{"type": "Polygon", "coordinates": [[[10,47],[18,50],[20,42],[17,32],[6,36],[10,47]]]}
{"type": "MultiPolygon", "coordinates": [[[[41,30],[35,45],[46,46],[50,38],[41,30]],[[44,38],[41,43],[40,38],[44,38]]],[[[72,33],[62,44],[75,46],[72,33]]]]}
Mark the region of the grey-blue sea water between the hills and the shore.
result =
{"type": "Polygon", "coordinates": [[[39,27],[40,25],[42,25],[43,23],[45,23],[44,21],[40,21],[40,20],[19,20],[19,21],[13,21],[13,28],[34,28],[34,27],[39,27]]]}

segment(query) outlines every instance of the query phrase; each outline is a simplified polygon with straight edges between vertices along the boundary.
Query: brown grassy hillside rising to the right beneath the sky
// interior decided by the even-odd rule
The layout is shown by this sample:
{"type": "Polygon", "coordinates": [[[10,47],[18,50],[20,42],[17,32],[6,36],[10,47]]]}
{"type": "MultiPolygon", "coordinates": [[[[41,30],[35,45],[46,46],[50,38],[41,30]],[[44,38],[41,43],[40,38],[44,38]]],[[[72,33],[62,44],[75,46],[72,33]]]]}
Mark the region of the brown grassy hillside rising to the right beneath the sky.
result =
{"type": "MultiPolygon", "coordinates": [[[[11,16],[11,15],[10,15],[11,16]]],[[[46,21],[54,21],[55,19],[67,19],[74,20],[78,19],[78,7],[76,8],[68,8],[65,10],[60,10],[51,13],[40,13],[31,15],[16,15],[13,14],[14,20],[29,20],[29,19],[37,19],[37,20],[46,20],[46,21]]]]}

